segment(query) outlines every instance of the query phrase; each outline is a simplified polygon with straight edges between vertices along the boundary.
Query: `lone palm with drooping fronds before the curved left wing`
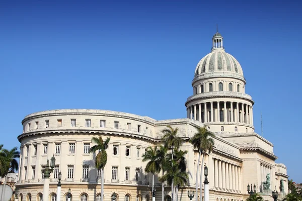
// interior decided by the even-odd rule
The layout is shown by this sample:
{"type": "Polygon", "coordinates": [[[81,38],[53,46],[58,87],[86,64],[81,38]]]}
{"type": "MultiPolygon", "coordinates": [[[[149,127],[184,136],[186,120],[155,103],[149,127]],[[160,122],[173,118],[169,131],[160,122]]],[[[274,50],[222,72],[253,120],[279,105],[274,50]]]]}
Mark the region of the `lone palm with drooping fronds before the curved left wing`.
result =
{"type": "Polygon", "coordinates": [[[103,201],[104,197],[104,167],[107,163],[107,152],[106,149],[108,148],[110,138],[107,138],[105,142],[103,141],[102,137],[92,137],[91,142],[96,143],[95,146],[89,149],[89,153],[96,153],[99,150],[99,153],[95,159],[95,165],[98,170],[102,171],[101,176],[101,201],[103,201]]]}

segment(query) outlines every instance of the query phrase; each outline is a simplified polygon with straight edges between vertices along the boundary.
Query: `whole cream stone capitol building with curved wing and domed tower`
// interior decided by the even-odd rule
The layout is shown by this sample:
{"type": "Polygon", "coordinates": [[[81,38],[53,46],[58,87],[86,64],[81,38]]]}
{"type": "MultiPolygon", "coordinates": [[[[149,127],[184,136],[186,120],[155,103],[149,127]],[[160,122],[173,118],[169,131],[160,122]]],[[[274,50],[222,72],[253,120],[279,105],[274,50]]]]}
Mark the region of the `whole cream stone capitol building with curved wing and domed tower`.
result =
{"type": "MultiPolygon", "coordinates": [[[[193,72],[192,72],[193,75],[193,72]]],[[[211,52],[196,66],[192,95],[185,102],[183,119],[155,120],[138,115],[105,111],[66,109],[30,114],[22,121],[18,136],[21,157],[16,197],[18,201],[41,201],[46,160],[54,156],[49,200],[55,201],[58,173],[62,173],[60,199],[100,201],[101,172],[95,168],[95,154],[89,153],[92,137],[110,137],[108,162],[104,169],[104,200],[152,200],[152,175],[145,173],[142,155],[147,147],[163,144],[162,130],[179,128],[181,149],[188,151],[188,185],[178,192],[178,201],[189,201],[195,190],[195,174],[207,165],[211,201],[243,201],[248,184],[255,184],[264,200],[273,200],[272,190],[282,198],[288,193],[286,166],[276,163],[273,144],[254,131],[252,97],[245,91],[246,79],[240,63],[224,51],[219,33],[212,37],[211,52]],[[197,164],[198,152],[189,139],[196,126],[206,125],[215,134],[214,150],[197,164]]],[[[200,172],[200,171],[199,171],[200,172]]],[[[156,200],[162,200],[162,186],[155,178],[156,200]]],[[[199,182],[198,182],[199,183],[199,182]]],[[[198,186],[203,187],[203,186],[198,186]]],[[[171,201],[171,187],[165,186],[165,200],[171,201]]],[[[195,196],[197,196],[195,194],[195,196]]]]}

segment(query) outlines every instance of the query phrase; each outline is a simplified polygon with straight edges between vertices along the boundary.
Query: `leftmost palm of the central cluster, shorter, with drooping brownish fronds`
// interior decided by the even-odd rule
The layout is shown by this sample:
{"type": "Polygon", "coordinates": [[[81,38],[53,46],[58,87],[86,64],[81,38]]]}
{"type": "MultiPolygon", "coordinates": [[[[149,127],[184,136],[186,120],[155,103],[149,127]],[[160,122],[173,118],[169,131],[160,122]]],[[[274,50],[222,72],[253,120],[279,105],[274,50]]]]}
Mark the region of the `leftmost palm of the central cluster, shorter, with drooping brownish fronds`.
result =
{"type": "Polygon", "coordinates": [[[147,151],[142,155],[142,162],[148,161],[145,167],[145,172],[152,173],[152,192],[154,189],[154,175],[161,171],[161,165],[159,163],[158,156],[158,146],[148,147],[147,151]]]}

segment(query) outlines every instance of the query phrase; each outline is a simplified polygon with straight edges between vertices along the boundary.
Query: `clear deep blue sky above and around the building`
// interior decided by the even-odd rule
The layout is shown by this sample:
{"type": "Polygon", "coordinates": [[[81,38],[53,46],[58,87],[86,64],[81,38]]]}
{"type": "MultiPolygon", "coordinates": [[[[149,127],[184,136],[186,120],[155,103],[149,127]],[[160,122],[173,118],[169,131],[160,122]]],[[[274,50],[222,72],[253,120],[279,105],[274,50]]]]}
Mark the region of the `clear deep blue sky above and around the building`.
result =
{"type": "Polygon", "coordinates": [[[19,147],[22,119],[43,110],[185,118],[196,64],[218,23],[255,100],[256,132],[262,112],[277,162],[302,182],[298,1],[79,2],[1,3],[1,144],[19,147]]]}

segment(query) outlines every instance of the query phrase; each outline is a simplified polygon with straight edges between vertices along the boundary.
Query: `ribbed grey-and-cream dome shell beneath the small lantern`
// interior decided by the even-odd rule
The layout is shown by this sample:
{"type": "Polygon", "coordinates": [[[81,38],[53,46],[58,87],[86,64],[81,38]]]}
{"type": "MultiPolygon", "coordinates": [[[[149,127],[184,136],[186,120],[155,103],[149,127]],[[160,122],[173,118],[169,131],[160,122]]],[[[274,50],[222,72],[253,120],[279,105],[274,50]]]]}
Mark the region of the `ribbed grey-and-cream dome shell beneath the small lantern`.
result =
{"type": "Polygon", "coordinates": [[[195,76],[208,72],[228,72],[241,75],[243,71],[239,62],[224,50],[215,50],[203,57],[195,69],[195,76]]]}

